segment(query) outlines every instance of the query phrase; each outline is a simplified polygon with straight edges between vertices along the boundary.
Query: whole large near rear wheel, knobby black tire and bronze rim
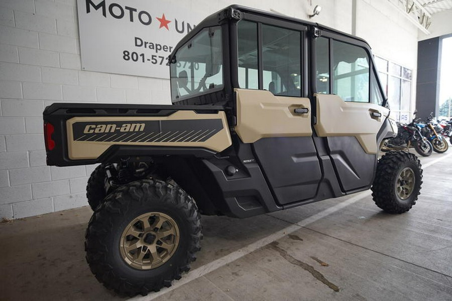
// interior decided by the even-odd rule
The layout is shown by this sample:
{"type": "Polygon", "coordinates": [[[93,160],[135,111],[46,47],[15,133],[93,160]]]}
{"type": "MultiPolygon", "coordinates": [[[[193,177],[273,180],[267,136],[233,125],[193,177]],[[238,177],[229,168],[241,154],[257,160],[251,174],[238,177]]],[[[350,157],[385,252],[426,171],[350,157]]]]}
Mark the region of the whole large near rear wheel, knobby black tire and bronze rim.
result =
{"type": "Polygon", "coordinates": [[[97,280],[119,294],[158,291],[180,279],[196,259],[199,219],[195,202],[178,186],[131,182],[93,213],[85,235],[86,261],[97,280]]]}

